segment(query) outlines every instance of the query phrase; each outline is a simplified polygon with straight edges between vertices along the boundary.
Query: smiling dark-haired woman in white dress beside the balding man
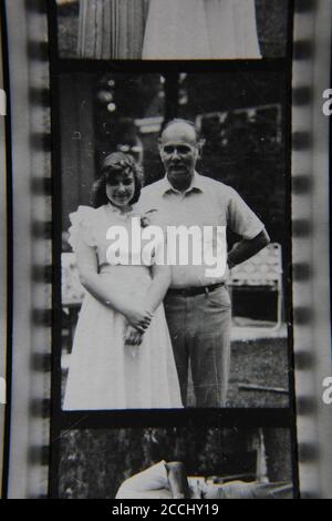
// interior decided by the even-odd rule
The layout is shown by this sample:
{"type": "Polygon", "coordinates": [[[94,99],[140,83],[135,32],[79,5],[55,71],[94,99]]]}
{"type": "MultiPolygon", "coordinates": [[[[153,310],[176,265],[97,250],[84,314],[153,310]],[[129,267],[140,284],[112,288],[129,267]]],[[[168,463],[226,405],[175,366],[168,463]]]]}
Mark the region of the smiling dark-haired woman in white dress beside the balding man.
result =
{"type": "Polygon", "coordinates": [[[134,160],[113,153],[104,160],[94,186],[95,207],[80,206],[70,216],[70,243],[86,295],[74,337],[64,410],[181,407],[162,305],[170,272],[154,264],[153,252],[143,260],[135,246],[139,237],[131,236],[136,229],[133,219],[141,224],[133,207],[139,193],[134,160]],[[117,245],[110,241],[113,232],[122,231],[129,241],[117,245]]]}

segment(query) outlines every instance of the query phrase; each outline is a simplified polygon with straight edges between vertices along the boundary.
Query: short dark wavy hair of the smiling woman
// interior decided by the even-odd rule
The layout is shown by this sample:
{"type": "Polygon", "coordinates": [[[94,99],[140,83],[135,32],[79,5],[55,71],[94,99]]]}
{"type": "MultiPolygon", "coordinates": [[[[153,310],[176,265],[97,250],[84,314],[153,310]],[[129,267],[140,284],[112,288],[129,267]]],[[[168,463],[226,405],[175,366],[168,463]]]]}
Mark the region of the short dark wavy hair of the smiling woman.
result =
{"type": "Polygon", "coordinates": [[[135,193],[131,201],[131,204],[136,203],[139,200],[142,188],[142,168],[137,165],[134,157],[123,152],[113,152],[106,155],[103,160],[101,175],[98,180],[93,184],[91,203],[93,207],[97,208],[103,204],[108,203],[106,195],[106,184],[110,182],[113,175],[120,173],[133,173],[135,180],[135,193]]]}

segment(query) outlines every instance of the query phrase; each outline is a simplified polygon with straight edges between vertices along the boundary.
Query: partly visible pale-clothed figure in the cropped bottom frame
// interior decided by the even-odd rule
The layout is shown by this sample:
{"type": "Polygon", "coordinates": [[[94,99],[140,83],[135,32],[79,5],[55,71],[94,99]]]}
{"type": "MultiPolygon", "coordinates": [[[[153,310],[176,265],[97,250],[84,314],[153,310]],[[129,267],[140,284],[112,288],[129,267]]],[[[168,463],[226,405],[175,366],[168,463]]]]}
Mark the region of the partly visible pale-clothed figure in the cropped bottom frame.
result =
{"type": "Polygon", "coordinates": [[[120,487],[115,499],[292,499],[291,482],[228,481],[207,483],[187,478],[179,461],[160,461],[132,476],[120,487]]]}

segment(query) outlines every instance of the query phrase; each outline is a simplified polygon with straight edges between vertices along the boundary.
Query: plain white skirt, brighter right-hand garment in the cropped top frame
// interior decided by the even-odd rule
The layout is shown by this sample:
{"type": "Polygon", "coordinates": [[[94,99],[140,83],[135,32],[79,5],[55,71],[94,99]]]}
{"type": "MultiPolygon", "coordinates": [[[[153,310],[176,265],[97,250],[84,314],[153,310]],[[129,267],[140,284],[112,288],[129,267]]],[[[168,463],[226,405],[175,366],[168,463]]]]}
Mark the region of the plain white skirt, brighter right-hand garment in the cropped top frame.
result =
{"type": "Polygon", "coordinates": [[[261,58],[255,0],[151,0],[143,59],[261,58]]]}

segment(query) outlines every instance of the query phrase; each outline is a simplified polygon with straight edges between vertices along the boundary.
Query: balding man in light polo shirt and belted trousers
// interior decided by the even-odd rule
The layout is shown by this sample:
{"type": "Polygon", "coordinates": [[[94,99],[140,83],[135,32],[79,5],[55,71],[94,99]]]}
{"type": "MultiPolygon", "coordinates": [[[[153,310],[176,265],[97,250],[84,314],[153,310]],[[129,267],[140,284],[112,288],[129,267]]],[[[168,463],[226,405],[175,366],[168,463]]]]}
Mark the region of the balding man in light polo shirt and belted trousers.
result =
{"type": "Polygon", "coordinates": [[[205,257],[197,264],[194,255],[188,256],[187,265],[173,265],[164,302],[184,406],[190,361],[196,407],[225,407],[231,323],[228,268],[258,253],[269,236],[235,190],[196,171],[203,144],[191,122],[170,121],[159,139],[166,175],[143,190],[139,206],[163,228],[198,226],[204,232],[207,226],[229,227],[242,237],[228,253],[222,273],[211,276],[205,257]]]}

